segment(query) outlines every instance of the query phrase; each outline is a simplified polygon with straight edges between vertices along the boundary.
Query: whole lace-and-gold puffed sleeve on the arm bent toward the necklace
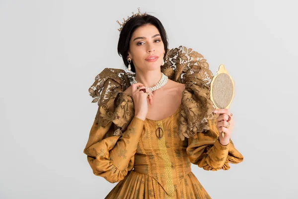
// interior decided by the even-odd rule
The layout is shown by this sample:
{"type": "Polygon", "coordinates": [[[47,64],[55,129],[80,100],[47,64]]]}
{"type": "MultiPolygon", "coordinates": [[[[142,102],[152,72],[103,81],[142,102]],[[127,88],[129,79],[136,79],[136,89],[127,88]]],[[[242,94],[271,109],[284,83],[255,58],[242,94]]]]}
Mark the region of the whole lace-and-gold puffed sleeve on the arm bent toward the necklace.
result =
{"type": "Polygon", "coordinates": [[[98,110],[83,150],[96,176],[119,182],[134,167],[134,155],[145,121],[134,116],[132,98],[124,93],[130,74],[105,68],[89,88],[98,110]]]}

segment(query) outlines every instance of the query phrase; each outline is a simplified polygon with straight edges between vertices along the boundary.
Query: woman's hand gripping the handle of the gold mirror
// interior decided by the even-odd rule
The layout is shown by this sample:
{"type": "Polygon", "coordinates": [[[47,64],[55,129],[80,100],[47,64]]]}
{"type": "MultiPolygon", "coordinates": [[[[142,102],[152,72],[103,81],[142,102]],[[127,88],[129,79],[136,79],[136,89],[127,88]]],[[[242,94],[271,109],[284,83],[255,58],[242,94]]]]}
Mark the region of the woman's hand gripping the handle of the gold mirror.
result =
{"type": "Polygon", "coordinates": [[[217,114],[220,114],[217,118],[217,121],[218,121],[217,128],[218,128],[218,131],[220,132],[219,134],[220,143],[222,145],[227,145],[229,143],[232,130],[234,127],[233,117],[231,116],[231,113],[229,112],[229,110],[226,108],[216,109],[214,112],[217,114]],[[229,116],[231,117],[231,119],[227,122],[229,116]],[[228,123],[229,123],[229,126],[228,126],[228,123]],[[226,128],[226,126],[228,127],[226,128]],[[224,137],[222,135],[222,132],[224,132],[224,137]]]}

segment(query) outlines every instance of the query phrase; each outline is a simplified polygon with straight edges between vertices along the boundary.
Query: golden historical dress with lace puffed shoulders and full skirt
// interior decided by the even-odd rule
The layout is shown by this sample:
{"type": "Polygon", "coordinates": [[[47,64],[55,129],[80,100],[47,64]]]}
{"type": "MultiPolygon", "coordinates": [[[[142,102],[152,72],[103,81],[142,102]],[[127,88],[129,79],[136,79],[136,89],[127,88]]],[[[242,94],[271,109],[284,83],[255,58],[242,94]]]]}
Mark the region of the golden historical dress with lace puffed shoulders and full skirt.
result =
{"type": "Polygon", "coordinates": [[[131,73],[105,68],[89,89],[98,111],[83,152],[94,175],[119,182],[106,199],[211,199],[191,163],[217,171],[243,161],[232,140],[219,141],[203,56],[179,46],[168,51],[161,71],[185,84],[179,108],[161,120],[134,116],[133,99],[124,93],[131,73]]]}

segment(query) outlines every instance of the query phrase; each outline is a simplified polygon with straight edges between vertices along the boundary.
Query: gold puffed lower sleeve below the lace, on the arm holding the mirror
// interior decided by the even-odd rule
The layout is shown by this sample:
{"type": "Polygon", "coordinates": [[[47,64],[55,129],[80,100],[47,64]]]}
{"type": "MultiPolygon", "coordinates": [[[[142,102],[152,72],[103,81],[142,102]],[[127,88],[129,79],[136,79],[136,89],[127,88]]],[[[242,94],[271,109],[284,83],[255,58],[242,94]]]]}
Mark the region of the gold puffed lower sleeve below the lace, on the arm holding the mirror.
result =
{"type": "Polygon", "coordinates": [[[209,130],[197,132],[188,138],[186,152],[191,163],[204,170],[228,170],[229,163],[238,164],[243,161],[243,156],[234,147],[230,139],[227,145],[222,145],[219,140],[219,131],[215,119],[208,120],[209,130]]]}

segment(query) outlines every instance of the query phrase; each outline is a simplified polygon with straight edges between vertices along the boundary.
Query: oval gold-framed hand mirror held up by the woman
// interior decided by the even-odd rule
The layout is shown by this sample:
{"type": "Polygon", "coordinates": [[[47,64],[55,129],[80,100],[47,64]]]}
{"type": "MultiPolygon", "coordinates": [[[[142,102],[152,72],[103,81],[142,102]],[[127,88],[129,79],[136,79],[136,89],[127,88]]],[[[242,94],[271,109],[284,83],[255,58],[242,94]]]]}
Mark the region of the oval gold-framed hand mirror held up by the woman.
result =
{"type": "MultiPolygon", "coordinates": [[[[234,82],[221,64],[217,75],[212,78],[210,98],[216,108],[229,108],[234,97],[234,82]]],[[[221,113],[222,114],[222,113],[221,113]]],[[[222,132],[224,137],[224,132],[222,132]]]]}

